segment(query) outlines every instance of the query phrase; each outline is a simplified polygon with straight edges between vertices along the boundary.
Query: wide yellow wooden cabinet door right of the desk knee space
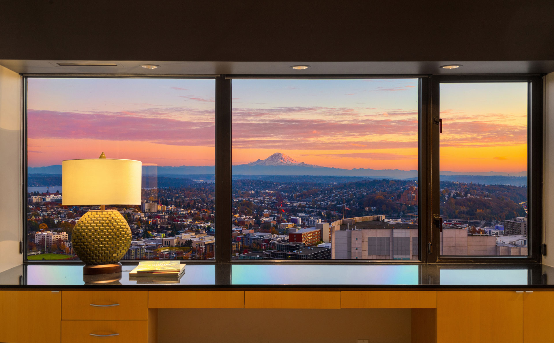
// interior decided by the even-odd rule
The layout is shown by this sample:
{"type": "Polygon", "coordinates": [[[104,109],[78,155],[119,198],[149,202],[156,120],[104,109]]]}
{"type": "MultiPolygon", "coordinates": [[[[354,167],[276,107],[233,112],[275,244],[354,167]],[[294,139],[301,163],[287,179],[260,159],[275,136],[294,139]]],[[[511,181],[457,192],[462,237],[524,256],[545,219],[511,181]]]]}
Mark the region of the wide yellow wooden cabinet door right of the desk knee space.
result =
{"type": "Polygon", "coordinates": [[[522,343],[523,294],[437,292],[438,343],[522,343]]]}

